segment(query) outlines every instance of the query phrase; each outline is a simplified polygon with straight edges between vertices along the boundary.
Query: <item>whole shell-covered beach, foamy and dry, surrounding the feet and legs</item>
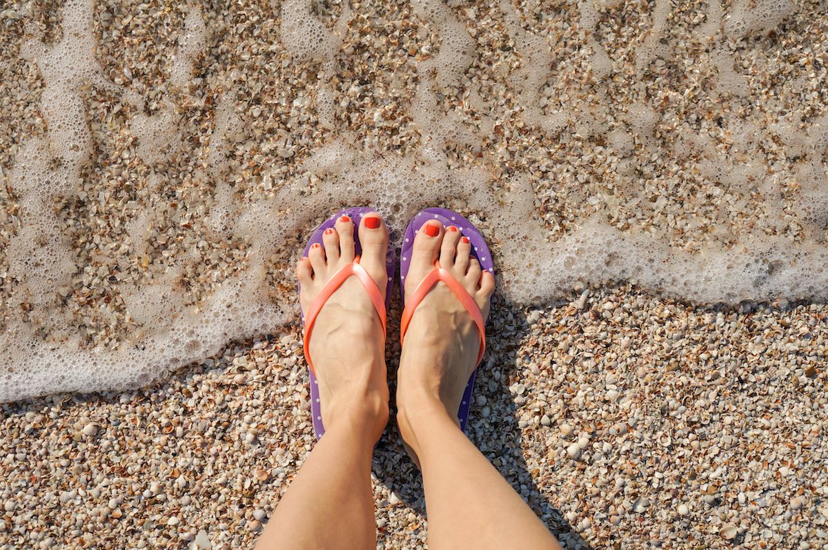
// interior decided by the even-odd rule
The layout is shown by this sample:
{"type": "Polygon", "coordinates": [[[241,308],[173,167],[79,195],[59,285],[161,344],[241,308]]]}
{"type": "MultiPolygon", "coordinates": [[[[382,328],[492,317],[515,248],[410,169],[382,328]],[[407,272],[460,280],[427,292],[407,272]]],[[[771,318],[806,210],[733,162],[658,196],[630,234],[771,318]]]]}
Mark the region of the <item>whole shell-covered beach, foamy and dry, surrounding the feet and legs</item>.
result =
{"type": "MultiPolygon", "coordinates": [[[[489,239],[467,432],[566,548],[828,547],[825,2],[7,0],[0,54],[0,550],[251,548],[354,204],[489,239]]],[[[426,548],[393,418],[373,475],[426,548]]]]}

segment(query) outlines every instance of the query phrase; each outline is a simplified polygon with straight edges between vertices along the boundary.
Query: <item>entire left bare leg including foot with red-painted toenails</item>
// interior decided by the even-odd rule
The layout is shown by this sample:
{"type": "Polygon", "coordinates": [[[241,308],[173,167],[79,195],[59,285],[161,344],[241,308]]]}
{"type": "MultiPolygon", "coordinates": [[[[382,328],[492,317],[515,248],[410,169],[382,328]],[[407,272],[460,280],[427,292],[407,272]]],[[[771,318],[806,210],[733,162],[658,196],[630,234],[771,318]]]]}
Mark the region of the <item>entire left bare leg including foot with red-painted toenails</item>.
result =
{"type": "MultiPolygon", "coordinates": [[[[388,230],[359,226],[361,264],[385,292],[388,230]]],[[[301,305],[310,302],[354,259],[354,224],[339,220],[297,268],[301,305]]],[[[325,303],[310,340],[325,435],[310,452],[257,544],[277,548],[376,548],[371,455],[388,422],[383,331],[368,295],[350,277],[325,303]]]]}

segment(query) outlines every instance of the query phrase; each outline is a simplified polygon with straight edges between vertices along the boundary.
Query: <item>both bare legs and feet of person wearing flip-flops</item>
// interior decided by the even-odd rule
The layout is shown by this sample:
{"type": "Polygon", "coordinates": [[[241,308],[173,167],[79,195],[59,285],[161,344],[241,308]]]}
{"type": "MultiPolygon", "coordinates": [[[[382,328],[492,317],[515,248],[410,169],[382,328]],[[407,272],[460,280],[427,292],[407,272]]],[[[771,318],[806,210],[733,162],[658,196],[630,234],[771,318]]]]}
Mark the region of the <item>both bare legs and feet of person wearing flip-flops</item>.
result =
{"type": "MultiPolygon", "coordinates": [[[[375,213],[364,215],[358,228],[344,216],[296,268],[303,311],[325,282],[354,259],[354,230],[363,247],[360,263],[384,297],[388,229],[375,213]]],[[[412,248],[407,295],[439,258],[488,316],[494,278],[469,256],[470,248],[456,228],[427,222],[412,248]]],[[[474,322],[439,282],[412,316],[397,373],[397,422],[422,470],[429,548],[561,548],[460,432],[457,410],[478,351],[474,322]]],[[[325,303],[310,341],[325,436],[278,503],[258,550],[376,548],[371,457],[388,422],[383,354],[377,313],[361,283],[350,277],[325,303]]]]}

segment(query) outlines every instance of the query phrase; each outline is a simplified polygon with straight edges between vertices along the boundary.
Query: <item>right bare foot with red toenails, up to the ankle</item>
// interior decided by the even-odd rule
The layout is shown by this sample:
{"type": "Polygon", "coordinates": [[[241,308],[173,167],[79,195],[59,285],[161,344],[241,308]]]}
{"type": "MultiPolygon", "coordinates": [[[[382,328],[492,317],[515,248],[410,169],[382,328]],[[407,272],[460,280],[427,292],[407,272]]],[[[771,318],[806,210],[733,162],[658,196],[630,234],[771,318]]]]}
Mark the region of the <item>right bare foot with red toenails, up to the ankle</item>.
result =
{"type": "MultiPolygon", "coordinates": [[[[494,277],[471,256],[469,240],[454,226],[443,228],[429,220],[414,238],[412,263],[406,281],[406,298],[434,268],[451,273],[474,298],[484,319],[489,316],[489,297],[494,277]]],[[[460,399],[477,363],[480,335],[469,312],[443,282],[426,294],[412,316],[402,345],[397,372],[397,422],[407,449],[416,459],[413,425],[437,410],[448,413],[458,427],[460,399]]]]}

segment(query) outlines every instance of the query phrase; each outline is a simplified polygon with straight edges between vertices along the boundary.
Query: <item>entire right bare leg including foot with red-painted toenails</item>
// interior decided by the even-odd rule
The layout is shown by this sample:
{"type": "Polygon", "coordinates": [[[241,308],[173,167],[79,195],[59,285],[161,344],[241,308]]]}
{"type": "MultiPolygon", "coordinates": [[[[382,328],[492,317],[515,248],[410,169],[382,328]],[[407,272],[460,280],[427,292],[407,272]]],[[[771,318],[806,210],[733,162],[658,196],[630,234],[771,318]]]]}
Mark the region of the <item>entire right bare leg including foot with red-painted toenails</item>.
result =
{"type": "MultiPolygon", "coordinates": [[[[439,257],[488,315],[493,277],[469,259],[470,245],[457,231],[428,223],[439,230],[417,234],[406,292],[439,257]]],[[[423,472],[429,546],[559,550],[532,509],[460,432],[457,411],[477,351],[474,323],[439,283],[412,316],[397,374],[397,421],[423,472]]]]}

